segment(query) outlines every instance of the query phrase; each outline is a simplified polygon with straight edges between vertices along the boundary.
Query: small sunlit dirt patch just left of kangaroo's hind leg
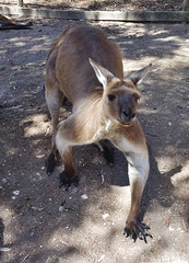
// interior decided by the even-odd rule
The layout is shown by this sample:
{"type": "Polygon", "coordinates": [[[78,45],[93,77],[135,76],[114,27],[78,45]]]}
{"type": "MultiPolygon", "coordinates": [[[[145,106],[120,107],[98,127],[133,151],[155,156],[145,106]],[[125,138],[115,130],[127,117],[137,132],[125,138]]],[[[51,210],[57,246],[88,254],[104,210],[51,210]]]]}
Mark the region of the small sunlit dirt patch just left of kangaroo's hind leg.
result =
{"type": "Polygon", "coordinates": [[[29,138],[33,136],[44,135],[49,129],[49,123],[45,121],[46,115],[45,114],[38,114],[35,116],[32,116],[27,119],[24,119],[21,125],[27,124],[28,122],[32,122],[29,126],[24,128],[24,137],[29,138]]]}

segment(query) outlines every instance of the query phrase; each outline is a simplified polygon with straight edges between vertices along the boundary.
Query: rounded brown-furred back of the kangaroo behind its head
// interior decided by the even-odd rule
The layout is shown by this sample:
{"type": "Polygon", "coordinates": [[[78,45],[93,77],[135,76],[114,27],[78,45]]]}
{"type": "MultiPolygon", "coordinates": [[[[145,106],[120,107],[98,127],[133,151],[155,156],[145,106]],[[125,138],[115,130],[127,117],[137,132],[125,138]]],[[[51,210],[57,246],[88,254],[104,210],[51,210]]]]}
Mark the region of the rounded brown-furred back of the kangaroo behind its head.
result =
{"type": "Polygon", "coordinates": [[[74,104],[101,87],[88,58],[122,79],[122,59],[119,46],[111,43],[105,33],[92,26],[68,28],[59,37],[48,60],[54,69],[59,89],[74,104]]]}

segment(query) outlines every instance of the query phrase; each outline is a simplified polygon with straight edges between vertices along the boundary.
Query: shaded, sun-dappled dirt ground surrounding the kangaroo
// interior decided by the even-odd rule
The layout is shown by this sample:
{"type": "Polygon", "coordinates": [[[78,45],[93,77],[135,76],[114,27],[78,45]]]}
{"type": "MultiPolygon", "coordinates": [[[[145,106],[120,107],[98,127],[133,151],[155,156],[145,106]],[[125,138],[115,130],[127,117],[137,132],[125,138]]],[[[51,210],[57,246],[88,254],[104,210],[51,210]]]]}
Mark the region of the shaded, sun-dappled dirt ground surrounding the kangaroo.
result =
{"type": "MultiPolygon", "coordinates": [[[[34,21],[0,34],[0,261],[2,263],[189,262],[189,24],[94,23],[120,44],[125,70],[150,62],[139,119],[151,172],[141,215],[147,244],[122,235],[130,207],[127,162],[108,167],[95,146],[76,147],[79,187],[45,173],[50,118],[44,96],[48,52],[78,21],[34,21]]],[[[67,108],[62,107],[62,116],[67,108]]]]}

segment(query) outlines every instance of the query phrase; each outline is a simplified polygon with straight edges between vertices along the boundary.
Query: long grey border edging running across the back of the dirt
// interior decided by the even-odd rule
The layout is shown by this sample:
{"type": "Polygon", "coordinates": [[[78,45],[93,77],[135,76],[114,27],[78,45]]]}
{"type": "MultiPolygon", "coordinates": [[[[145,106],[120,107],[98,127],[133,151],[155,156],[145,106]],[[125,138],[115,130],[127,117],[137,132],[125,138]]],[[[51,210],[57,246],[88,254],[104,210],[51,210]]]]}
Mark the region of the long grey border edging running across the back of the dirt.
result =
{"type": "Polygon", "coordinates": [[[189,22],[189,12],[153,12],[153,11],[79,11],[28,9],[15,7],[0,7],[4,15],[20,15],[33,19],[62,20],[95,20],[95,21],[128,21],[128,22],[189,22]]]}

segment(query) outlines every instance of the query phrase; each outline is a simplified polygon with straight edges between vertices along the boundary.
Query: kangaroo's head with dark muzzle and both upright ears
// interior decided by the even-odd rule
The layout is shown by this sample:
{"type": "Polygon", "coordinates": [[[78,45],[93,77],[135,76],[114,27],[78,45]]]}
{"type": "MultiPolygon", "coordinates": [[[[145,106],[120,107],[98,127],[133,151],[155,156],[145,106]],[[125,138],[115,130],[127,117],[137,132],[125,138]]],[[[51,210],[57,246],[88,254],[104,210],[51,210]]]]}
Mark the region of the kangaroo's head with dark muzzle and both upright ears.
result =
{"type": "Polygon", "coordinates": [[[103,103],[105,114],[122,125],[130,125],[135,119],[138,101],[140,99],[137,83],[145,77],[152,65],[121,80],[92,59],[90,59],[90,62],[104,88],[103,103]]]}

